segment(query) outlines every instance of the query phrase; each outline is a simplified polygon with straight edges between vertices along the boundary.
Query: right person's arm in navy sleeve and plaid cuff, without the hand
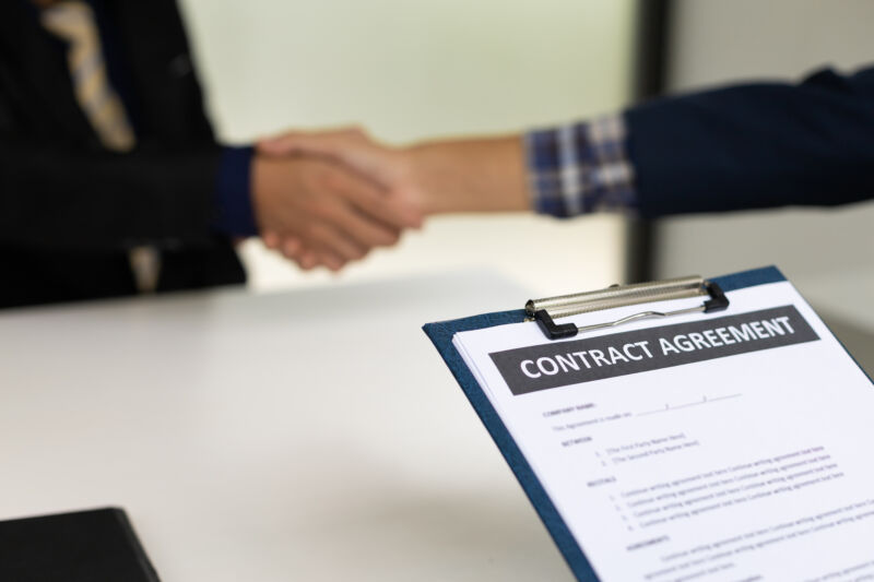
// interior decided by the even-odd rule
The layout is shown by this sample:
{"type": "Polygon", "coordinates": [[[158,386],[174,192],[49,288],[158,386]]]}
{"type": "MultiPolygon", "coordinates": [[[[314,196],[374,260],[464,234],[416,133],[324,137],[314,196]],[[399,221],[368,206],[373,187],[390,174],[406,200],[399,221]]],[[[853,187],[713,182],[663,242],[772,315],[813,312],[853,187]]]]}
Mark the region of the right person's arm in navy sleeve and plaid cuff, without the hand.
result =
{"type": "Polygon", "coordinates": [[[429,213],[660,216],[842,204],[874,192],[874,70],[668,97],[523,140],[410,152],[429,213]]]}

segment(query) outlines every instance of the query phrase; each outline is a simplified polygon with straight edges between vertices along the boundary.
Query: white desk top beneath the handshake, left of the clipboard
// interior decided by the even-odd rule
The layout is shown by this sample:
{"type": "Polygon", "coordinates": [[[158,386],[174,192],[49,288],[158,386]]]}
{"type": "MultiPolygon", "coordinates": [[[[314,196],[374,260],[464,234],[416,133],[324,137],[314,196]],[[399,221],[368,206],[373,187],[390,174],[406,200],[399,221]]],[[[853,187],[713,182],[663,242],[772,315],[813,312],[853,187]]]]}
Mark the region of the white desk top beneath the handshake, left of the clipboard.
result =
{"type": "Polygon", "coordinates": [[[421,325],[456,273],[0,313],[0,518],[119,506],[165,582],[571,580],[421,325]]]}

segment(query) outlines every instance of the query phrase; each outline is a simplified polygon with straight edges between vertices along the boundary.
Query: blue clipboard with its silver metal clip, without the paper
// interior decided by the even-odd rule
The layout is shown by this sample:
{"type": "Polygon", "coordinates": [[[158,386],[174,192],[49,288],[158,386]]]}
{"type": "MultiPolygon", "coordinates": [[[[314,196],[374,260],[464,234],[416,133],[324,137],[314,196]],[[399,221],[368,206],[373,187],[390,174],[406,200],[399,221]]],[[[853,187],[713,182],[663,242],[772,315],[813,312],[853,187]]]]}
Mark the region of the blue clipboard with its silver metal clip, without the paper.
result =
{"type": "MultiPolygon", "coordinates": [[[[787,278],[776,266],[767,266],[709,280],[702,280],[701,277],[683,277],[682,280],[643,283],[626,287],[613,286],[599,292],[588,292],[543,300],[530,300],[523,309],[497,311],[451,321],[428,323],[424,325],[423,330],[434,343],[438,353],[463,390],[464,395],[485,425],[488,433],[497,444],[505,461],[509,464],[529,500],[534,506],[538,515],[543,521],[543,524],[546,526],[546,530],[562,553],[562,556],[567,561],[574,575],[580,582],[597,582],[599,578],[590,561],[578,545],[533,468],[525,460],[507,426],[501,420],[483,389],[481,389],[463,357],[453,345],[453,336],[459,332],[482,330],[523,321],[536,321],[546,337],[558,340],[586,332],[589,329],[618,326],[643,318],[670,318],[673,314],[687,313],[690,310],[684,308],[673,312],[641,311],[630,318],[604,321],[601,324],[587,328],[577,328],[572,324],[563,324],[555,321],[565,316],[618,306],[645,304],[659,299],[671,299],[672,293],[676,294],[674,296],[675,298],[701,296],[701,306],[693,308],[692,311],[709,313],[711,311],[720,311],[728,306],[728,300],[724,296],[725,293],[786,281],[787,278]]],[[[850,357],[852,357],[852,355],[850,355],[850,357]]],[[[854,358],[853,361],[858,366],[858,361],[855,361],[854,358]]],[[[869,380],[871,380],[870,377],[869,380]]]]}

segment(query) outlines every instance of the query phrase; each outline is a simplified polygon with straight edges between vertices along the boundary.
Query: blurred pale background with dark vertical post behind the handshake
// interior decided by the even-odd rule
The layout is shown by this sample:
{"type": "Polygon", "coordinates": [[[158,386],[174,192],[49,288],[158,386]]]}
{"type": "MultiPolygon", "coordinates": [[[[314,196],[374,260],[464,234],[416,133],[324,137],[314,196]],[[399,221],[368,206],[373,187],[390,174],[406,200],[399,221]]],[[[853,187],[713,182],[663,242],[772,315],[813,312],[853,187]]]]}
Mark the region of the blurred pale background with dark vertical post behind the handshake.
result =
{"type": "MultiPolygon", "coordinates": [[[[865,0],[181,4],[229,141],[347,123],[391,143],[518,131],[662,92],[853,69],[874,55],[865,0]]],[[[874,329],[872,224],[872,204],[659,224],[452,216],[339,275],[300,272],[258,241],[243,254],[257,292],[486,268],[557,294],[777,264],[845,334],[864,335],[874,329]]]]}

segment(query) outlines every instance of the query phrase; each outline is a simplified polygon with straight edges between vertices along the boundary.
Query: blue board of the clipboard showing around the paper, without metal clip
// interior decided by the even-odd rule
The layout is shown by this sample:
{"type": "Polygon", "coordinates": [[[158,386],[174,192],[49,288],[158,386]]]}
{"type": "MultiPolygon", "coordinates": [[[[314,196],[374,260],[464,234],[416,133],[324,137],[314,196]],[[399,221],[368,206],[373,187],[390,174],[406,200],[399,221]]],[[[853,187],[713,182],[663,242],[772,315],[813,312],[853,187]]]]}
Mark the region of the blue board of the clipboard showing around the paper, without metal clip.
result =
{"type": "MultiPolygon", "coordinates": [[[[723,292],[732,292],[746,287],[754,287],[756,285],[779,283],[787,281],[787,278],[776,266],[766,266],[720,277],[712,277],[709,281],[717,283],[723,292]]],[[[452,376],[456,377],[456,380],[464,391],[464,395],[468,396],[468,400],[485,425],[495,444],[498,446],[504,459],[510,465],[516,478],[534,506],[546,530],[548,530],[555,545],[558,546],[558,549],[562,551],[562,556],[565,557],[574,575],[580,582],[598,582],[598,575],[570,533],[567,524],[562,519],[562,515],[559,515],[552,500],[546,495],[540,479],[538,479],[531,465],[529,465],[528,461],[522,455],[522,452],[510,436],[500,416],[492,406],[488,397],[480,388],[473,373],[468,368],[466,364],[464,364],[461,354],[459,354],[458,349],[456,349],[456,346],[452,344],[452,337],[458,332],[482,330],[495,325],[504,325],[506,323],[520,323],[524,321],[524,319],[525,311],[523,309],[513,309],[510,311],[497,311],[451,321],[428,323],[423,329],[434,343],[437,352],[439,352],[440,356],[446,360],[447,366],[449,366],[449,369],[452,371],[452,376]]]]}

